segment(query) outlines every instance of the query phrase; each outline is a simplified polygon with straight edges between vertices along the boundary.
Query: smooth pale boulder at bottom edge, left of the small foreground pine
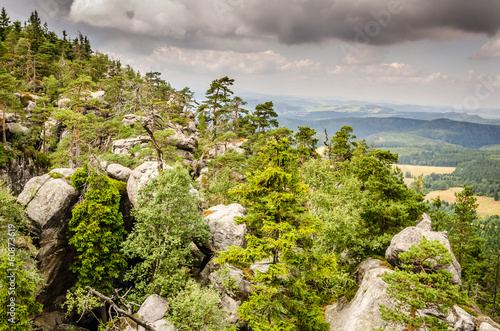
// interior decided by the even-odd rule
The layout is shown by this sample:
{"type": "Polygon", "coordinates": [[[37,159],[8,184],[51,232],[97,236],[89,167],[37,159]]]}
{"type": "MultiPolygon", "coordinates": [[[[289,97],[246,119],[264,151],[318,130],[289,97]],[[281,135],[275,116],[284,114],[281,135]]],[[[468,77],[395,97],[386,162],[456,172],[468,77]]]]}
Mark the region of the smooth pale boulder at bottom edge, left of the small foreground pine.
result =
{"type": "Polygon", "coordinates": [[[380,317],[379,304],[391,306],[385,293],[387,283],[382,280],[385,272],[392,270],[380,260],[367,259],[359,265],[360,285],[351,302],[340,299],[325,309],[330,331],[400,330],[380,317]]]}

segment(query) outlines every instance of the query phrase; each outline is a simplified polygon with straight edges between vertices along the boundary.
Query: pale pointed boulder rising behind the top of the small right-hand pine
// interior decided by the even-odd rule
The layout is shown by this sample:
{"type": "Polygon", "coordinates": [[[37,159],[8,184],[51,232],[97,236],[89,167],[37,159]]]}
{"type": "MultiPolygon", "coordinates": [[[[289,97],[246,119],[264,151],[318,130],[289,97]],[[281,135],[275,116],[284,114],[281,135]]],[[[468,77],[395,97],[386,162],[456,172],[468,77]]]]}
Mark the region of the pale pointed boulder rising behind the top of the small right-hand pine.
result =
{"type": "Polygon", "coordinates": [[[455,255],[453,255],[446,232],[432,231],[432,222],[427,214],[423,214],[417,226],[410,226],[403,229],[395,235],[389,248],[385,252],[386,260],[393,266],[399,266],[399,253],[406,252],[411,246],[418,245],[423,237],[428,240],[439,240],[450,251],[452,255],[452,263],[450,265],[437,265],[436,268],[448,270],[452,274],[451,282],[455,285],[462,286],[462,269],[455,255]]]}

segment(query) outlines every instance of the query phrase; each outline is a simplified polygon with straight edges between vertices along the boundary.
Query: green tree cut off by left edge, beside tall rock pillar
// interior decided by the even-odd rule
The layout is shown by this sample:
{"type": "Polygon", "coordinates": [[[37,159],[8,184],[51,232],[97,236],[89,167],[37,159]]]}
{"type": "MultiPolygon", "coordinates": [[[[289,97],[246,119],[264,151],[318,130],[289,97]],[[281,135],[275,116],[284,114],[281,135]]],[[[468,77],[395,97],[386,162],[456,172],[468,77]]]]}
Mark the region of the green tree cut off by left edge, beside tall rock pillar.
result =
{"type": "Polygon", "coordinates": [[[42,289],[35,249],[28,235],[28,220],[16,198],[0,182],[0,330],[31,330],[30,316],[42,305],[42,289]],[[13,301],[14,300],[14,301],[13,301]]]}

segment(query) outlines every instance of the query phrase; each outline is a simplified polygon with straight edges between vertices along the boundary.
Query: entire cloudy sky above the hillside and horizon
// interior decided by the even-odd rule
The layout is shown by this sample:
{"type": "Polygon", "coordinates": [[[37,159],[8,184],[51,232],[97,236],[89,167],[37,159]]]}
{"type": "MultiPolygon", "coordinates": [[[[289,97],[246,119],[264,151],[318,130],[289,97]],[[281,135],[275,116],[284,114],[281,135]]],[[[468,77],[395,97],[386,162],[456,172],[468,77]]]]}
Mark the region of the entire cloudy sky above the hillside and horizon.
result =
{"type": "MultiPolygon", "coordinates": [[[[498,0],[0,0],[176,88],[500,108],[498,0]]],[[[198,95],[198,97],[201,97],[198,95]]]]}

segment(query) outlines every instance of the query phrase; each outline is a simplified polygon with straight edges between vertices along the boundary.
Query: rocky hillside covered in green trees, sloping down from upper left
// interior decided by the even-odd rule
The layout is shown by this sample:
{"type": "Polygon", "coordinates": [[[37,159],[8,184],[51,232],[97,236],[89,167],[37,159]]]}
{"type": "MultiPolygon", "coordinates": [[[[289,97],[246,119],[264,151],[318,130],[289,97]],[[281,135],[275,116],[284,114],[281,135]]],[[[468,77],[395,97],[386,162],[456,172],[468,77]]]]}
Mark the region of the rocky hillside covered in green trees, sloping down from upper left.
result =
{"type": "MultiPolygon", "coordinates": [[[[326,307],[353,298],[358,264],[384,260],[424,212],[449,231],[460,282],[436,267],[452,261],[443,243],[413,245],[393,274],[434,295],[381,308],[386,330],[422,326],[417,308],[500,313],[498,219],[478,219],[471,188],[451,213],[430,208],[398,155],[348,125],[319,155],[314,128],[280,127],[271,100],[248,109],[229,77],[196,101],[68,35],[36,12],[0,14],[0,330],[44,329],[62,310],[63,330],[165,329],[138,313],[152,295],[171,330],[330,330],[326,307]]],[[[416,294],[384,277],[395,300],[416,294]]],[[[438,317],[425,322],[448,325],[438,317]]]]}

